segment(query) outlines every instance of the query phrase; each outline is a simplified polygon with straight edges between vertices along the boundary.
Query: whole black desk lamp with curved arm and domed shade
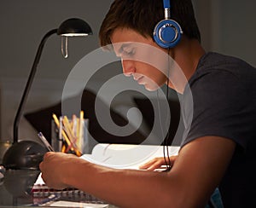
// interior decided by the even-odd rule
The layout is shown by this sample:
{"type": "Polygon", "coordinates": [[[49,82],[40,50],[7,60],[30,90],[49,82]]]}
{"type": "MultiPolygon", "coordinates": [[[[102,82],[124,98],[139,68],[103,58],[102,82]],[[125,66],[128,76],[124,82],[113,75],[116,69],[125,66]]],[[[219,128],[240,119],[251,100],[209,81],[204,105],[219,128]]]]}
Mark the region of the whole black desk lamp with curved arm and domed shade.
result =
{"type": "Polygon", "coordinates": [[[38,51],[32,65],[32,69],[26,88],[21,97],[20,106],[15,116],[14,123],[14,140],[13,144],[3,156],[3,165],[7,169],[38,169],[38,164],[42,161],[46,148],[38,142],[20,141],[18,142],[18,126],[20,117],[26,103],[27,95],[32,86],[32,81],[37,71],[38,62],[42,54],[44,43],[53,34],[61,36],[61,52],[64,58],[67,58],[67,38],[68,37],[84,37],[92,35],[90,26],[84,21],[77,18],[71,18],[61,23],[58,29],[53,29],[44,35],[41,43],[38,46],[38,51]]]}

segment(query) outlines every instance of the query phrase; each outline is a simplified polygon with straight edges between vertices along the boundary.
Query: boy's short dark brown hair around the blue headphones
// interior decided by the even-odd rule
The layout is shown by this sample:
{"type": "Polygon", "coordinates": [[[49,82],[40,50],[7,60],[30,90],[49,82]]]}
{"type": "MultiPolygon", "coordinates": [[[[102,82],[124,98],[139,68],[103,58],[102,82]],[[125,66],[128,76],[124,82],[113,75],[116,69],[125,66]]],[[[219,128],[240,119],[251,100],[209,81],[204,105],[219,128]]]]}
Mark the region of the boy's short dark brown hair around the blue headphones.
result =
{"type": "MultiPolygon", "coordinates": [[[[183,35],[201,42],[191,0],[171,0],[171,19],[182,27],[183,35]]],[[[129,28],[145,38],[153,38],[154,26],[160,20],[164,20],[163,0],[114,0],[102,21],[100,44],[111,44],[110,38],[117,28],[129,28]]]]}

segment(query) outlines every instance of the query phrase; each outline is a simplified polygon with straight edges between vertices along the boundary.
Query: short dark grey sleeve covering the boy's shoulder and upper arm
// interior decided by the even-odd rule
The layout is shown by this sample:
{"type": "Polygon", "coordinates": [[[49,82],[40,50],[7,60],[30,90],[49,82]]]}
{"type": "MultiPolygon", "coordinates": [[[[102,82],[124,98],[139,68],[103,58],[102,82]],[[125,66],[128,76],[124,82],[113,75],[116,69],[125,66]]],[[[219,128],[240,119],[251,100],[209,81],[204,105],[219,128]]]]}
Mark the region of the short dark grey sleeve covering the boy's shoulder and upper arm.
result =
{"type": "Polygon", "coordinates": [[[183,145],[201,136],[223,136],[246,148],[250,98],[241,79],[231,72],[209,72],[190,88],[194,107],[187,116],[193,119],[183,145]]]}

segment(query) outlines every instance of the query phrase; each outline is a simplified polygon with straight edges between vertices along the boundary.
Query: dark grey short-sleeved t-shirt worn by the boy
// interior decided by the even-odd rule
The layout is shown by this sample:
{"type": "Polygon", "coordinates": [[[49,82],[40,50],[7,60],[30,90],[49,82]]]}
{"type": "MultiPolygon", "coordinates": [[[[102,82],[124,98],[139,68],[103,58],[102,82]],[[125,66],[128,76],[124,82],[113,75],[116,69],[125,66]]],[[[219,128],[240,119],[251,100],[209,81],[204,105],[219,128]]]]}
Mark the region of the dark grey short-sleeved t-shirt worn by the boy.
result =
{"type": "Polygon", "coordinates": [[[236,142],[236,152],[219,184],[224,207],[256,207],[256,69],[235,57],[210,52],[201,57],[189,86],[194,105],[186,105],[187,88],[182,102],[186,126],[182,146],[201,136],[236,142]]]}

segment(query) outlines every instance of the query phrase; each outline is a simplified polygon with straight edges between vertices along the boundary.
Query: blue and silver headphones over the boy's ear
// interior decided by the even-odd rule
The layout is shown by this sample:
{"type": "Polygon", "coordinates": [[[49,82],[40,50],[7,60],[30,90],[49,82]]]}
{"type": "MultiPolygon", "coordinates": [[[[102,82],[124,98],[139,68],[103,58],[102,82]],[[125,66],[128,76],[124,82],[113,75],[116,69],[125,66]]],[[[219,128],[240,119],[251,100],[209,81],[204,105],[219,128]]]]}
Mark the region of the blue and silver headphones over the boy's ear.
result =
{"type": "Polygon", "coordinates": [[[165,20],[160,20],[154,26],[154,41],[162,48],[173,48],[180,41],[182,28],[177,21],[171,20],[171,0],[163,0],[165,9],[165,20]]]}

